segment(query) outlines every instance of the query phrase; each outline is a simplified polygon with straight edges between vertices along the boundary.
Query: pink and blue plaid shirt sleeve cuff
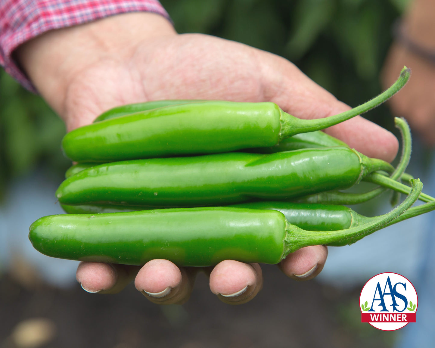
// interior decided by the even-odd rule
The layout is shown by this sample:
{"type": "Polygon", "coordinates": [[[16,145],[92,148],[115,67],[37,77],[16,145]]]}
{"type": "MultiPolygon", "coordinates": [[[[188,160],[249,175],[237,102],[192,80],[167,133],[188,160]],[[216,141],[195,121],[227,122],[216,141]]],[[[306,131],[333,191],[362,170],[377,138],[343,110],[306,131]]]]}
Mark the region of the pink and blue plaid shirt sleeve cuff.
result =
{"type": "Polygon", "coordinates": [[[48,30],[138,11],[158,13],[169,19],[158,0],[0,0],[0,65],[34,92],[30,80],[12,57],[21,43],[48,30]]]}

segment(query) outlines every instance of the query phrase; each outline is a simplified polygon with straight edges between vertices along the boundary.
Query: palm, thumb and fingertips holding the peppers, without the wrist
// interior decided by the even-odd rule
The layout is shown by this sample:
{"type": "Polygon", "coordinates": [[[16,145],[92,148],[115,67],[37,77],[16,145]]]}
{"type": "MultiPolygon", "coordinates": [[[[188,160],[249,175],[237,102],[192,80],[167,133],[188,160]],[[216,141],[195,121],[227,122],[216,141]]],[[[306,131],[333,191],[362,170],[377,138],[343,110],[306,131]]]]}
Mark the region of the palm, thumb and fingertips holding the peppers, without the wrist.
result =
{"type": "MultiPolygon", "coordinates": [[[[281,57],[191,34],[147,40],[116,57],[94,61],[71,80],[61,114],[72,130],[91,123],[111,107],[159,99],[273,101],[302,118],[326,117],[348,109],[281,57]]],[[[351,146],[368,155],[387,160],[397,146],[389,133],[362,118],[331,127],[330,133],[353,142],[351,146]],[[370,132],[361,132],[365,129],[370,132]]],[[[282,261],[281,269],[294,279],[310,279],[321,271],[326,255],[323,246],[304,248],[282,261]]],[[[115,292],[136,276],[136,288],[151,301],[181,303],[189,297],[196,271],[179,269],[165,260],[151,261],[140,270],[82,263],[77,280],[90,291],[115,292]]],[[[261,284],[258,264],[224,261],[210,274],[211,291],[225,302],[249,301],[261,284]]]]}

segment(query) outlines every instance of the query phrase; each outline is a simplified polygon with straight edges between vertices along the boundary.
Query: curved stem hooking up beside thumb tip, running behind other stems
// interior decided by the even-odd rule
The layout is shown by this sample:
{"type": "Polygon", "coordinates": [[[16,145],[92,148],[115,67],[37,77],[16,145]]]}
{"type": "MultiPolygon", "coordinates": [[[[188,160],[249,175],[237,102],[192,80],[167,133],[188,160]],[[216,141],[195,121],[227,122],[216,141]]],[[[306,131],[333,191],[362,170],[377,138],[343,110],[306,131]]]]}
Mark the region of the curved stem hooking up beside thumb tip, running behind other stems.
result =
{"type": "MultiPolygon", "coordinates": [[[[405,173],[406,167],[408,167],[409,160],[411,158],[412,151],[412,137],[411,130],[408,123],[403,118],[395,117],[395,126],[399,129],[402,135],[402,155],[400,161],[391,174],[392,180],[398,180],[404,177],[404,180],[409,181],[413,177],[405,173]]],[[[360,204],[377,197],[381,193],[385,192],[387,188],[378,187],[374,190],[364,193],[350,193],[340,191],[326,191],[318,194],[311,194],[309,196],[300,197],[294,202],[298,203],[326,203],[326,204],[360,204]]],[[[408,192],[409,193],[409,192],[408,192]]]]}

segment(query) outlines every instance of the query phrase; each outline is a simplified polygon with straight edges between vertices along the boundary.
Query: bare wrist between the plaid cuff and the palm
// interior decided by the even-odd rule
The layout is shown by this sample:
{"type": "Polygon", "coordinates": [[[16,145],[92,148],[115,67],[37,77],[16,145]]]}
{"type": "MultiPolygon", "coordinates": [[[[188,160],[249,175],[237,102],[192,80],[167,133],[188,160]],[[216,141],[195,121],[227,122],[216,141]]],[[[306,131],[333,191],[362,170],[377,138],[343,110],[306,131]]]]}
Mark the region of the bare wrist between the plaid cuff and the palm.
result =
{"type": "Polygon", "coordinates": [[[80,71],[103,60],[125,61],[139,43],[175,34],[158,14],[123,13],[51,30],[18,47],[16,57],[39,93],[63,115],[68,87],[80,71]]]}

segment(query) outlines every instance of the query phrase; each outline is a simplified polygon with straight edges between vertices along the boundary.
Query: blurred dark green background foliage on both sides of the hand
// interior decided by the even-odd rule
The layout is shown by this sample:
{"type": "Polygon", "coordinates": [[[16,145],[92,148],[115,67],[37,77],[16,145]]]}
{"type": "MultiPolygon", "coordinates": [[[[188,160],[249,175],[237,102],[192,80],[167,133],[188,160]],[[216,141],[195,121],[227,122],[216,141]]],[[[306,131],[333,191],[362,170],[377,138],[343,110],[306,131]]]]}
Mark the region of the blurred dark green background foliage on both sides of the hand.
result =
{"type": "MultiPolygon", "coordinates": [[[[391,25],[408,0],[161,0],[179,33],[198,32],[279,54],[356,106],[381,91],[391,25]]],[[[291,97],[291,96],[289,96],[291,97]]],[[[393,129],[388,108],[365,115],[393,129]]],[[[65,130],[49,107],[0,71],[0,187],[41,161],[60,173],[65,130]]],[[[1,192],[1,188],[0,188],[1,192]]]]}

